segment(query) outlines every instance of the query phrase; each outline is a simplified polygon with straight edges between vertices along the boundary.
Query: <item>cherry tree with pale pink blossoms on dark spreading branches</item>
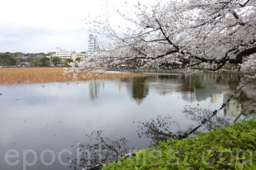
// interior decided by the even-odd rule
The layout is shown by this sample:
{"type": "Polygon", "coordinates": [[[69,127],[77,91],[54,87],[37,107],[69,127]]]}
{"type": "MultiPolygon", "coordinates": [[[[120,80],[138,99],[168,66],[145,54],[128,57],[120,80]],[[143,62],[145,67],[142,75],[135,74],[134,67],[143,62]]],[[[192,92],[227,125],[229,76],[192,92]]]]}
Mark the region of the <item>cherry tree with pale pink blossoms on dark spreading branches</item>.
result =
{"type": "Polygon", "coordinates": [[[85,19],[102,41],[93,62],[80,62],[77,71],[112,68],[127,61],[137,61],[142,68],[188,61],[185,67],[192,69],[216,71],[230,63],[256,70],[255,0],[156,0],[150,6],[126,5],[128,12],[117,13],[127,24],[113,23],[108,15],[85,19]]]}

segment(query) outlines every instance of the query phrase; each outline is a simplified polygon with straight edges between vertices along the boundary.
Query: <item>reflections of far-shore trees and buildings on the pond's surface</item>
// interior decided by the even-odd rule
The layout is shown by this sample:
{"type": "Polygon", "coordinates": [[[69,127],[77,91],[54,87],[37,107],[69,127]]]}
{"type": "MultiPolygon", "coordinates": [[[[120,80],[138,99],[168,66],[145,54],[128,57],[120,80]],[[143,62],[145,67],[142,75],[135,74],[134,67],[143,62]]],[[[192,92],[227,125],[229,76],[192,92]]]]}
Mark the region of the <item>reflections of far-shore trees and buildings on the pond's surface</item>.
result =
{"type": "MultiPolygon", "coordinates": [[[[205,73],[201,75],[155,74],[150,77],[120,78],[116,81],[125,82],[131,97],[140,104],[147,97],[149,89],[155,89],[159,95],[166,96],[179,92],[184,101],[195,102],[212,98],[220,98],[221,93],[234,92],[243,80],[242,74],[205,73]]],[[[89,94],[96,100],[100,94],[100,86],[105,81],[89,81],[89,94]]]]}

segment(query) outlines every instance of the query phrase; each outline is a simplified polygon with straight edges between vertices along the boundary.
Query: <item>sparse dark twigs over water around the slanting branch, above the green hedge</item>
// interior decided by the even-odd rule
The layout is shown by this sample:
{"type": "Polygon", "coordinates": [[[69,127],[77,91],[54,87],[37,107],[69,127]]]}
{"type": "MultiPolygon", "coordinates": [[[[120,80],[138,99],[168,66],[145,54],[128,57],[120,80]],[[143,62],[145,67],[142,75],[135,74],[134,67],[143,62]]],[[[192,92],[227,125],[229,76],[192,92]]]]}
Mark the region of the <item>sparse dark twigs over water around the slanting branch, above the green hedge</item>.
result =
{"type": "MultiPolygon", "coordinates": [[[[213,117],[207,123],[203,121],[210,117],[212,111],[207,109],[201,109],[199,107],[189,107],[187,109],[187,117],[193,121],[204,124],[203,128],[193,132],[189,136],[194,136],[202,131],[210,131],[213,127],[221,127],[230,125],[230,118],[224,119],[219,116],[213,117]]],[[[138,136],[151,139],[151,145],[155,146],[159,141],[170,140],[170,138],[180,139],[184,135],[187,135],[193,130],[192,125],[188,125],[186,130],[181,130],[180,125],[171,120],[171,116],[162,117],[158,115],[157,118],[151,119],[148,122],[139,122],[141,126],[138,126],[138,136]]]]}

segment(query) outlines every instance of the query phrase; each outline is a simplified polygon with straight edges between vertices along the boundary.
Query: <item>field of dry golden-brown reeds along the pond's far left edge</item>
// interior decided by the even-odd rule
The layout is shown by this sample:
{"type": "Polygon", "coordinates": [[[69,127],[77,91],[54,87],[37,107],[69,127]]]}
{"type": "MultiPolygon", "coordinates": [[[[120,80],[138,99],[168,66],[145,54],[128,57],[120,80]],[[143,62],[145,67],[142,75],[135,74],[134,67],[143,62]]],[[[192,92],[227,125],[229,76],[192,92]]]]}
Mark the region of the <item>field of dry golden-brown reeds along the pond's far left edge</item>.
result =
{"type": "Polygon", "coordinates": [[[77,78],[72,73],[63,75],[63,68],[0,68],[0,84],[25,84],[38,82],[87,81],[99,78],[144,77],[146,74],[82,72],[77,78]]]}

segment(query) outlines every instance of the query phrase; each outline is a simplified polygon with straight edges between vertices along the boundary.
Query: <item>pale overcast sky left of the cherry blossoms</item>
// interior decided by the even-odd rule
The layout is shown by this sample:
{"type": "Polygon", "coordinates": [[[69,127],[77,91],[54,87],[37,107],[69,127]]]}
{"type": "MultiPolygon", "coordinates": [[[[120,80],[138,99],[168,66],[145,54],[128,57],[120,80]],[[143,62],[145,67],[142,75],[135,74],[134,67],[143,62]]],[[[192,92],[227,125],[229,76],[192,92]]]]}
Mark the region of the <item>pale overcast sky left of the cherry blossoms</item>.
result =
{"type": "MultiPolygon", "coordinates": [[[[125,0],[108,0],[121,7],[125,0]]],[[[138,0],[137,0],[138,1],[138,0]]],[[[137,1],[127,0],[134,4],[137,1]]],[[[148,0],[141,0],[143,3],[148,0]]],[[[154,2],[154,0],[150,0],[154,2]]],[[[57,47],[81,52],[87,48],[88,13],[102,13],[105,0],[1,0],[0,52],[53,52],[57,47]]]]}

